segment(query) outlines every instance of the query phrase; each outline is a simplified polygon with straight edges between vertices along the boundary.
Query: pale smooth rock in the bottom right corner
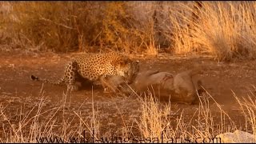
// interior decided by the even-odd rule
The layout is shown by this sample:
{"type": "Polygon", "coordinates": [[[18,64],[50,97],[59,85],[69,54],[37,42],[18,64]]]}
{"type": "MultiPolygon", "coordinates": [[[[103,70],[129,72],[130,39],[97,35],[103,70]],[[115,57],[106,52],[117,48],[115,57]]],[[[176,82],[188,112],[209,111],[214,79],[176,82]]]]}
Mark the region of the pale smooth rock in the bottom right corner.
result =
{"type": "Polygon", "coordinates": [[[255,143],[256,136],[241,130],[234,133],[218,134],[215,138],[221,138],[222,143],[255,143]]]}

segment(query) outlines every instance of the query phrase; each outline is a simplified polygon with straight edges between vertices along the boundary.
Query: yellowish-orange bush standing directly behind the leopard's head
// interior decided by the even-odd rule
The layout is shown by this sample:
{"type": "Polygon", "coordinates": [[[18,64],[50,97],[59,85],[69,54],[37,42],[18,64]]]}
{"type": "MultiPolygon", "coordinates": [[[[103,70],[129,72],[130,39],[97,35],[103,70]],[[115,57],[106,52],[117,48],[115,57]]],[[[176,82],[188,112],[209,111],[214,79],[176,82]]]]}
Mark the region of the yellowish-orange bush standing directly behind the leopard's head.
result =
{"type": "Polygon", "coordinates": [[[126,11],[130,8],[127,4],[128,2],[106,2],[103,11],[106,17],[102,20],[102,34],[98,40],[101,46],[112,46],[115,50],[130,54],[135,39],[132,34],[134,25],[130,21],[134,19],[126,11]]]}

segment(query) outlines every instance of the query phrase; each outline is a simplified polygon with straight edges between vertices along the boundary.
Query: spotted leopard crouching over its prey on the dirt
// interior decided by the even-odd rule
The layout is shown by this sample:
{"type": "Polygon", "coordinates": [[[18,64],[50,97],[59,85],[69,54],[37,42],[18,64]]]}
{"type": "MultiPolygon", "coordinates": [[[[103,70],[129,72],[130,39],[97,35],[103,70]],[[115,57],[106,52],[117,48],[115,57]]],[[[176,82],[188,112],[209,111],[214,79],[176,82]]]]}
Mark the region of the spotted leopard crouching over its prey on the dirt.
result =
{"type": "Polygon", "coordinates": [[[66,63],[64,75],[58,81],[47,78],[39,78],[30,75],[33,81],[46,82],[54,85],[66,85],[67,90],[76,91],[78,78],[84,78],[90,82],[100,82],[103,75],[120,75],[127,83],[134,81],[138,74],[138,61],[131,60],[125,54],[109,52],[102,54],[86,53],[66,63]]]}

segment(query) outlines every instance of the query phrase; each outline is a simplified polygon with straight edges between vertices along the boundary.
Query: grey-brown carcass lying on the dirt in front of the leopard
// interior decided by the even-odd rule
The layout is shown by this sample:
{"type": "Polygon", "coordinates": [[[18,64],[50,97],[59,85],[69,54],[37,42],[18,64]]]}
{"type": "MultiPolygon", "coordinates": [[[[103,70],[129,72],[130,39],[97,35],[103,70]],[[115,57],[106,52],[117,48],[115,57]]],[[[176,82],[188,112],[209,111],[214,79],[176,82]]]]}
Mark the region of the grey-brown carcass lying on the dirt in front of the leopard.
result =
{"type": "MultiPolygon", "coordinates": [[[[194,78],[194,75],[199,73],[198,70],[187,70],[174,75],[168,72],[149,70],[139,73],[131,87],[138,93],[150,90],[152,94],[160,99],[191,104],[198,98],[197,93],[202,91],[202,82],[194,78]]],[[[103,78],[103,80],[106,86],[114,92],[120,90],[124,94],[132,93],[130,86],[124,85],[126,82],[120,76],[111,76],[103,78]],[[120,86],[122,89],[120,89],[120,86]]]]}

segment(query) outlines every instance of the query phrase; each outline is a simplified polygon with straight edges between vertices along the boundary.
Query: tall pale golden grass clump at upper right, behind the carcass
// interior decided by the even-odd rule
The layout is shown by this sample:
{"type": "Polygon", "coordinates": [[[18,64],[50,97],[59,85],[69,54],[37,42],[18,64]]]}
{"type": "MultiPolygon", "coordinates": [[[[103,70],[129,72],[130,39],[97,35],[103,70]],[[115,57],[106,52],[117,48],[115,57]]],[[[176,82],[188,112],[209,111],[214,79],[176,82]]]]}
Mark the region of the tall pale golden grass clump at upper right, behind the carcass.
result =
{"type": "MultiPolygon", "coordinates": [[[[193,6],[182,5],[182,10],[170,14],[174,26],[174,49],[177,54],[203,52],[219,60],[255,57],[255,2],[202,2],[193,14],[193,6]],[[179,19],[179,21],[178,21],[179,19]]],[[[178,7],[178,8],[180,8],[178,7]]]]}

